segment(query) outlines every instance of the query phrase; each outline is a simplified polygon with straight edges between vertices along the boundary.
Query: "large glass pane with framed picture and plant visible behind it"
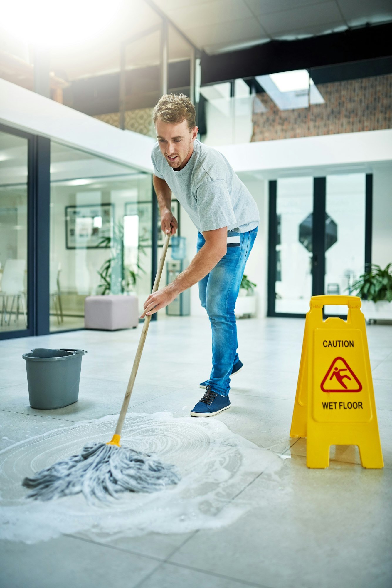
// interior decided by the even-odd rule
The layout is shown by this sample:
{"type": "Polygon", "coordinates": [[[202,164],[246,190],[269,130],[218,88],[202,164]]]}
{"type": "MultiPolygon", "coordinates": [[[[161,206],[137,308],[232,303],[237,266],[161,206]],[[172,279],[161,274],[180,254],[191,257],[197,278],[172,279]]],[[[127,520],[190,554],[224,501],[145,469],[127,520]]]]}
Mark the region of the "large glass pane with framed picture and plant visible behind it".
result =
{"type": "Polygon", "coordinates": [[[86,296],[151,288],[151,175],[51,143],[50,330],[83,328],[86,296]]]}

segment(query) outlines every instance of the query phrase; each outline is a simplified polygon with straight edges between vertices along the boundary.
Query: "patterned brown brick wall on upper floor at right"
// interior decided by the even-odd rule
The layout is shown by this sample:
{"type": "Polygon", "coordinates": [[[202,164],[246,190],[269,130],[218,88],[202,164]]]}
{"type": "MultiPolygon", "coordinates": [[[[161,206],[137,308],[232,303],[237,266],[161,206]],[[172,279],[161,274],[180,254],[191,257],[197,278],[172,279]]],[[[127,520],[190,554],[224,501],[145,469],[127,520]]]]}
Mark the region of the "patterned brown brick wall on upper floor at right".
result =
{"type": "Polygon", "coordinates": [[[268,94],[257,95],[267,108],[254,112],[252,141],[291,139],[392,128],[392,75],[321,83],[324,104],[281,111],[268,94]]]}

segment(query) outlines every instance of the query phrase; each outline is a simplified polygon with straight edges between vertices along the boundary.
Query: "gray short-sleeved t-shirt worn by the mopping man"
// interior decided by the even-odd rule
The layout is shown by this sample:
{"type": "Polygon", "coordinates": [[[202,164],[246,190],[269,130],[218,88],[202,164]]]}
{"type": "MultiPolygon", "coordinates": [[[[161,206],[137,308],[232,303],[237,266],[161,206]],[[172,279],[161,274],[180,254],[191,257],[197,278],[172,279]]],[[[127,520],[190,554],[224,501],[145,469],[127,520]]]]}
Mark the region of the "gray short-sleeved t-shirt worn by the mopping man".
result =
{"type": "Polygon", "coordinates": [[[193,145],[187,165],[175,172],[157,142],[151,152],[154,174],[166,181],[200,232],[255,229],[260,222],[256,202],[227,159],[198,139],[193,145]]]}

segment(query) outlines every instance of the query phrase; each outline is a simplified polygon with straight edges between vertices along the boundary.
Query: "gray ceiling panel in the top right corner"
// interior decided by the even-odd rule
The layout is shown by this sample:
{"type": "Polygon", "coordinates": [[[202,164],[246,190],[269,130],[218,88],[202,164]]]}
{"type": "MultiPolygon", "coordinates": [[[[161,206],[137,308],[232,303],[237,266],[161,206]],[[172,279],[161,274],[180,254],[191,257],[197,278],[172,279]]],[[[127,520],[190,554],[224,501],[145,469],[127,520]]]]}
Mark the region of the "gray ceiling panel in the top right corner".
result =
{"type": "Polygon", "coordinates": [[[391,0],[338,0],[338,4],[350,26],[392,20],[391,0]]]}

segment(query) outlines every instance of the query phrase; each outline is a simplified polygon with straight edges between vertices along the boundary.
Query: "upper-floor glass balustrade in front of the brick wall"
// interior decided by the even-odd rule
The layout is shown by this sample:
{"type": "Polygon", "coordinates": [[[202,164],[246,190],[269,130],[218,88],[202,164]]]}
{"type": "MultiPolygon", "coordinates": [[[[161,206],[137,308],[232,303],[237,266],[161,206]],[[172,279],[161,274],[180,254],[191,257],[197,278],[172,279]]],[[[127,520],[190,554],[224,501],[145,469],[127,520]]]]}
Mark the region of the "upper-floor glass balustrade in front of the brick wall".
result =
{"type": "Polygon", "coordinates": [[[381,59],[202,86],[208,145],[392,128],[392,71],[381,59]]]}

